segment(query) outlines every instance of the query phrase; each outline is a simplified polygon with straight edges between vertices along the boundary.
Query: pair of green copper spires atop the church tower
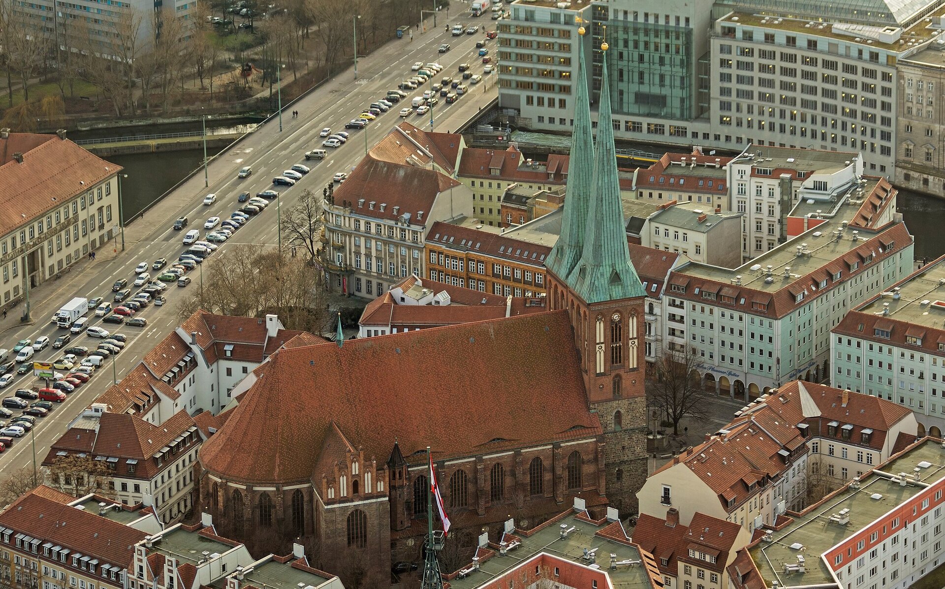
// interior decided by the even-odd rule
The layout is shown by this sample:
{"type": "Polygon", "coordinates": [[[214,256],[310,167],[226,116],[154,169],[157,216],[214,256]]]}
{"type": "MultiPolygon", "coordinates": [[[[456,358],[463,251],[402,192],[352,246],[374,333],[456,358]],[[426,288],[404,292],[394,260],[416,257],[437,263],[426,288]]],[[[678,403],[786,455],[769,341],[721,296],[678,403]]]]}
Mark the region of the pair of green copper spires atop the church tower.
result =
{"type": "MultiPolygon", "coordinates": [[[[578,32],[584,35],[582,26],[578,32]]],[[[602,43],[601,49],[608,50],[602,43]]],[[[610,111],[607,59],[598,109],[597,143],[592,143],[587,73],[578,54],[575,129],[558,242],[545,261],[585,303],[645,296],[627,250],[627,230],[617,175],[610,111]]]]}

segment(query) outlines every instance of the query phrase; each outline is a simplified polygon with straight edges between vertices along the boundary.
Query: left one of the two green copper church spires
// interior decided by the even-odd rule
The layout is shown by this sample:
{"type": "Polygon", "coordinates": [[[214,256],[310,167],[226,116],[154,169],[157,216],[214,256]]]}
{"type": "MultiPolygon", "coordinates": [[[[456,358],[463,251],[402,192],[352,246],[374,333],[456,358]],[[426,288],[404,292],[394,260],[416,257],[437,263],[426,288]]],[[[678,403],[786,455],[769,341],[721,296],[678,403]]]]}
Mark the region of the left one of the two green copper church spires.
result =
{"type": "MultiPolygon", "coordinates": [[[[584,27],[578,28],[577,32],[583,36],[584,27]]],[[[583,51],[577,52],[575,129],[568,162],[568,182],[565,189],[564,214],[561,217],[561,234],[544,262],[545,268],[554,272],[561,280],[567,279],[571,270],[575,269],[577,261],[581,259],[593,178],[591,107],[583,54],[583,51]]]]}

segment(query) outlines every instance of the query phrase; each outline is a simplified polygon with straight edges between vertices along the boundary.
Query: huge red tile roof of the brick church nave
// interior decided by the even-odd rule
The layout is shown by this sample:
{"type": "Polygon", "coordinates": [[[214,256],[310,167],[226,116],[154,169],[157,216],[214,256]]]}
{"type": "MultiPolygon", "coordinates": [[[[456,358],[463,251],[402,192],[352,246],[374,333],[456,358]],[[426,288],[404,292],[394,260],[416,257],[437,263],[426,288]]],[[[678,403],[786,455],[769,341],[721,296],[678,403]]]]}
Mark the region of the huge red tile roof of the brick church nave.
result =
{"type": "Polygon", "coordinates": [[[200,460],[231,480],[308,480],[329,420],[376,459],[395,438],[409,460],[427,445],[445,459],[596,435],[572,338],[554,311],[283,350],[200,460]],[[455,407],[478,408],[458,419],[455,407]]]}

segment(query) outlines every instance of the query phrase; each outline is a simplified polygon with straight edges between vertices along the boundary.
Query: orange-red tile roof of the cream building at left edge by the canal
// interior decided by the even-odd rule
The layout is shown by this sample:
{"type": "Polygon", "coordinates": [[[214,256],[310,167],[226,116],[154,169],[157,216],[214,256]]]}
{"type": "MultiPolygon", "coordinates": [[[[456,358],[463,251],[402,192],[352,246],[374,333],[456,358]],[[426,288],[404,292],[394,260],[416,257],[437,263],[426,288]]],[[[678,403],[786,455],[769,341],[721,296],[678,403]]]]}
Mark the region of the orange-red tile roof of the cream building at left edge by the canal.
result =
{"type": "Polygon", "coordinates": [[[35,133],[10,133],[0,139],[0,161],[0,235],[59,208],[122,169],[71,141],[35,133]],[[23,154],[22,164],[12,159],[13,153],[23,154]]]}

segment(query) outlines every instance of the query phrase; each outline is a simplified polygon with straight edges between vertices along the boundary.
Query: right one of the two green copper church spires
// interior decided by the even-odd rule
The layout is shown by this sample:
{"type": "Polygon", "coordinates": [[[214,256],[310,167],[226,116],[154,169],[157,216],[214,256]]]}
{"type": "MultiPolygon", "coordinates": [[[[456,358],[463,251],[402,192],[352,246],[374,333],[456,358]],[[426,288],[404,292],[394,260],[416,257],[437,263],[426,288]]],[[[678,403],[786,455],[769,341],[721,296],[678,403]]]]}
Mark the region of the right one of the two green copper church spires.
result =
{"type": "MultiPolygon", "coordinates": [[[[623,199],[617,177],[617,155],[610,123],[610,83],[607,75],[607,43],[601,76],[597,145],[594,149],[593,183],[588,206],[587,240],[581,259],[568,276],[568,285],[586,303],[617,301],[645,296],[640,277],[630,263],[623,199]]],[[[567,200],[565,200],[567,202],[567,200]]]]}

